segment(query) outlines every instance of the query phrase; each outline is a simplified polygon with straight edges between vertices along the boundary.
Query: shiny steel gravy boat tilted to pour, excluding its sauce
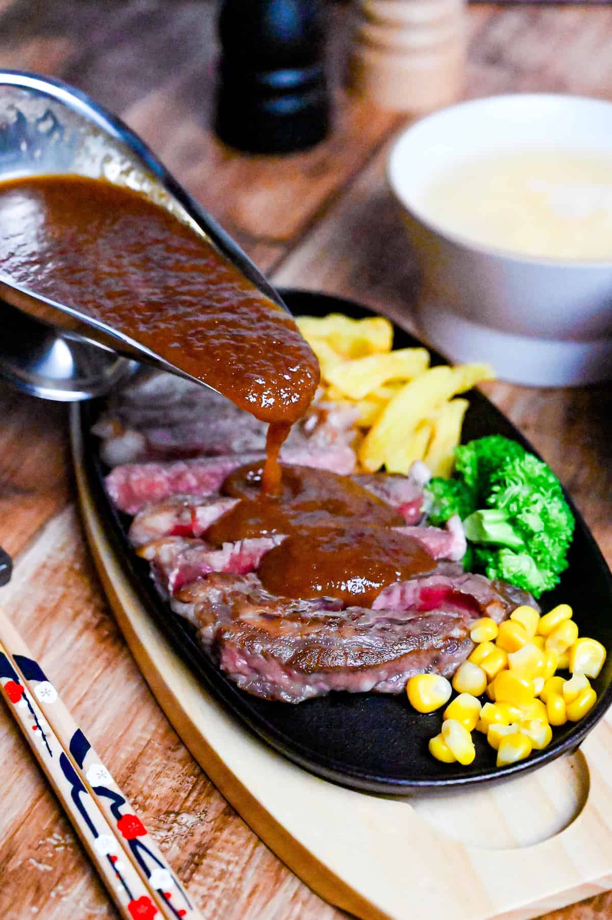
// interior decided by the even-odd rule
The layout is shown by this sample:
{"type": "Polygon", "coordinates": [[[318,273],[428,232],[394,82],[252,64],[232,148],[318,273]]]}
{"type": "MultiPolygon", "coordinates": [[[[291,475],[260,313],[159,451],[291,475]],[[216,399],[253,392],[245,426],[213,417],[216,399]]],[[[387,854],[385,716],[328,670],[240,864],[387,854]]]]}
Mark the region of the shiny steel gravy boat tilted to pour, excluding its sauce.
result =
{"type": "MultiPolygon", "coordinates": [[[[53,173],[140,191],[190,224],[289,312],[231,236],[122,121],[60,80],[0,71],[0,181],[53,173]]],[[[134,374],[139,362],[196,380],[107,323],[17,284],[1,268],[0,316],[0,376],[35,396],[97,397],[134,374]]]]}

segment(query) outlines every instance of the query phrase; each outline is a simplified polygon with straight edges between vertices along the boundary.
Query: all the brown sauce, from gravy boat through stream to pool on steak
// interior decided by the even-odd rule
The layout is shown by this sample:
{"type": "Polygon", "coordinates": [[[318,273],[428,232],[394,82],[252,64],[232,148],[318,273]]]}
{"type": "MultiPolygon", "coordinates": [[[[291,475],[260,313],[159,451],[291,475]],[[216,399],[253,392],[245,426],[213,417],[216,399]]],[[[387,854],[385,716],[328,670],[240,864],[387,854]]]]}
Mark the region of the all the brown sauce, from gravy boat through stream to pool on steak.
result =
{"type": "Polygon", "coordinates": [[[285,312],[204,238],[141,194],[76,176],[0,185],[0,270],[151,348],[269,422],[265,466],[223,490],[243,500],[207,532],[221,545],[287,535],[264,558],[265,587],[371,604],[391,581],[435,567],[391,528],[402,515],[348,477],[278,465],[319,382],[312,349],[285,312]]]}

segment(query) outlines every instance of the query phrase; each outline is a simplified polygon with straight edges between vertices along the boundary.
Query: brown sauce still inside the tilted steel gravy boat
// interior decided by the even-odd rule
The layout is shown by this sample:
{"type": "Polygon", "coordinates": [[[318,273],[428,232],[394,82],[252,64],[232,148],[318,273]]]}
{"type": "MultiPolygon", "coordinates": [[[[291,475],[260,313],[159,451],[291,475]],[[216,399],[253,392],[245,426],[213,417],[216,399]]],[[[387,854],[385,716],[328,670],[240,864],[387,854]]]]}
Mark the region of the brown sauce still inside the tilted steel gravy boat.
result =
{"type": "Polygon", "coordinates": [[[294,422],[319,366],[294,321],[172,213],[73,176],[0,185],[0,270],[214,386],[256,418],[294,422]]]}

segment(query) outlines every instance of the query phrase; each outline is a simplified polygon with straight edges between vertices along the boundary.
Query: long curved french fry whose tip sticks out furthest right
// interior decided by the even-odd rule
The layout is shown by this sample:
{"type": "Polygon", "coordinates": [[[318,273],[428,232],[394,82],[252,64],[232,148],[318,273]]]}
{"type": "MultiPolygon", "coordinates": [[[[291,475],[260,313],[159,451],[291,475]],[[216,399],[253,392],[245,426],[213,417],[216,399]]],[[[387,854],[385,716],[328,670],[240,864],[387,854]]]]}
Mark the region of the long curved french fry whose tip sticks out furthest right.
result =
{"type": "Polygon", "coordinates": [[[488,364],[432,367],[419,374],[387,403],[368,431],[359,450],[361,465],[368,473],[380,469],[386,457],[397,456],[420,420],[477,381],[491,379],[492,374],[488,364]]]}

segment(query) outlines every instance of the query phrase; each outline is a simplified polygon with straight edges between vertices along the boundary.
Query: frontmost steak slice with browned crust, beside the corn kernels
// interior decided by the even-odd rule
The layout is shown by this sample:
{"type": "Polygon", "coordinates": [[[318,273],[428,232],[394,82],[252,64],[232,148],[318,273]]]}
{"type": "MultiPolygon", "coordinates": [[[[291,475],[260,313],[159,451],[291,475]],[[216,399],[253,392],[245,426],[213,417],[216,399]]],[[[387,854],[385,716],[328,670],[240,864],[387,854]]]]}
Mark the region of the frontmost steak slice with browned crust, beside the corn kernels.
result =
{"type": "MultiPolygon", "coordinates": [[[[223,671],[255,696],[300,703],[331,690],[401,693],[415,673],[454,673],[473,648],[470,620],[495,606],[493,589],[485,598],[475,581],[470,594],[473,576],[459,572],[446,563],[441,574],[414,579],[410,609],[337,610],[333,599],[278,598],[253,574],[225,573],[194,581],[171,604],[198,627],[223,671]]],[[[497,603],[514,609],[502,595],[497,603]]]]}

